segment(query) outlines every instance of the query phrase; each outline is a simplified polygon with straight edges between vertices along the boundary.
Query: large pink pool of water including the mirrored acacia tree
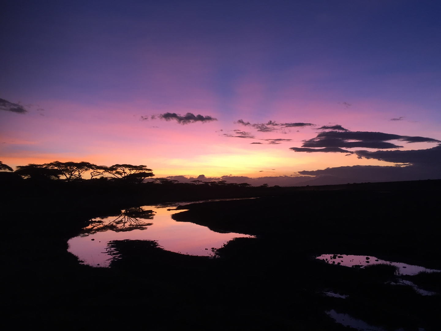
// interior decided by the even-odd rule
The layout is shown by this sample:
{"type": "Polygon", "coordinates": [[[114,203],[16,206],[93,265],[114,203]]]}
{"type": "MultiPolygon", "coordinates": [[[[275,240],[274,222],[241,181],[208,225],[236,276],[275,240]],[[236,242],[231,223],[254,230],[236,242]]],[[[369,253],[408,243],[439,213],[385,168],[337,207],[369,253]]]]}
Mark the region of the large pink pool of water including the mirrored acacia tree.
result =
{"type": "MultiPolygon", "coordinates": [[[[142,206],[130,208],[112,217],[93,218],[90,226],[67,242],[68,252],[78,256],[83,263],[94,267],[106,267],[113,258],[107,252],[108,242],[113,240],[153,240],[167,251],[213,256],[215,249],[234,238],[254,237],[242,233],[219,233],[206,226],[176,222],[172,219],[172,214],[177,212],[172,208],[189,203],[142,206]]],[[[181,211],[185,210],[181,209],[178,212],[181,211]]]]}

